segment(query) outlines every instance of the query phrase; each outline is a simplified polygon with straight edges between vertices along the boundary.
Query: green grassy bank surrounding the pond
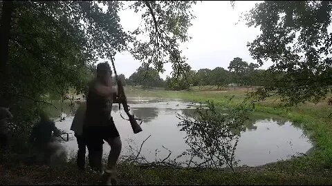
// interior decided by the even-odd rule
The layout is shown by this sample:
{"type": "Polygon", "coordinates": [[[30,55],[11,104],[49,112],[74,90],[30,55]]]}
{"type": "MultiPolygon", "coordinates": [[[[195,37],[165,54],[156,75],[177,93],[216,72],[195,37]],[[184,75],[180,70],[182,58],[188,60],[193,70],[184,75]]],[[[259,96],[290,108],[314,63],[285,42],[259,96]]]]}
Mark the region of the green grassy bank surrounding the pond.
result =
{"type": "MultiPolygon", "coordinates": [[[[127,96],[163,97],[196,102],[212,100],[217,105],[222,105],[226,100],[225,96],[233,95],[234,102],[240,103],[245,98],[247,89],[215,91],[213,87],[194,87],[192,91],[174,92],[125,87],[125,91],[127,96]]],[[[303,127],[314,143],[311,153],[260,167],[237,167],[236,174],[227,169],[175,169],[120,163],[120,185],[331,185],[332,131],[331,119],[328,117],[329,105],[322,101],[286,109],[278,107],[277,103],[274,99],[268,99],[259,103],[255,110],[286,117],[295,125],[303,127]]],[[[15,165],[1,165],[1,185],[93,185],[98,180],[97,174],[79,172],[73,161],[57,169],[15,162],[15,165]]]]}

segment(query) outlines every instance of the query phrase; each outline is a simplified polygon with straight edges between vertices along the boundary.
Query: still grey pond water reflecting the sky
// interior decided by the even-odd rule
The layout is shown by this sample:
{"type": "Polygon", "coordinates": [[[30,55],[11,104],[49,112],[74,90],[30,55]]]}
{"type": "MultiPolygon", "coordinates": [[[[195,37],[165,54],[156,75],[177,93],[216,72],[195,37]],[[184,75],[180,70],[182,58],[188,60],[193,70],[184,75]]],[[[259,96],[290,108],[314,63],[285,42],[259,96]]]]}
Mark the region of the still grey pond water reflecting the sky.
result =
{"type": "MultiPolygon", "coordinates": [[[[199,106],[198,103],[158,98],[131,98],[128,101],[131,112],[143,119],[143,131],[133,134],[129,121],[121,118],[118,105],[113,105],[113,120],[122,138],[122,156],[133,152],[130,147],[139,150],[142,142],[150,135],[140,152],[149,162],[163,160],[169,154],[167,149],[172,152],[169,159],[174,160],[190,148],[184,140],[186,132],[180,131],[177,126],[180,120],[176,114],[194,112],[199,106]]],[[[123,111],[122,116],[127,117],[123,111]]],[[[57,121],[55,125],[60,130],[72,132],[72,121],[73,116],[68,116],[62,122],[57,121]]],[[[63,145],[68,155],[77,152],[77,142],[73,134],[69,135],[69,141],[63,142],[63,145]]],[[[241,133],[235,157],[239,160],[238,165],[258,166],[299,156],[311,147],[312,144],[302,129],[295,127],[290,121],[277,116],[254,114],[246,123],[246,131],[241,133]]],[[[109,145],[104,143],[104,156],[108,154],[109,145]]],[[[190,157],[182,156],[176,161],[181,162],[188,158],[190,157]]]]}

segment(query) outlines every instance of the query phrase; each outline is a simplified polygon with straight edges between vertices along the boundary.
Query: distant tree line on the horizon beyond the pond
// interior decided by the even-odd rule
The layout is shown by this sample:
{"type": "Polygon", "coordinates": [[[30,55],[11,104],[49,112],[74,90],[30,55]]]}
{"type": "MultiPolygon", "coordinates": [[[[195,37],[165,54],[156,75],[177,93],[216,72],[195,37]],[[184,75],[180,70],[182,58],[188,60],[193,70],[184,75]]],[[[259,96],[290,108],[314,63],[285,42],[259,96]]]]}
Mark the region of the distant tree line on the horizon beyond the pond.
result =
{"type": "Polygon", "coordinates": [[[140,67],[128,79],[123,74],[120,74],[119,78],[124,85],[141,85],[143,88],[165,87],[167,90],[187,90],[192,86],[205,85],[216,85],[218,89],[228,86],[261,86],[264,85],[267,72],[258,68],[257,64],[236,57],[230,61],[228,70],[221,67],[213,70],[188,70],[177,78],[167,76],[164,80],[154,68],[140,67]]]}

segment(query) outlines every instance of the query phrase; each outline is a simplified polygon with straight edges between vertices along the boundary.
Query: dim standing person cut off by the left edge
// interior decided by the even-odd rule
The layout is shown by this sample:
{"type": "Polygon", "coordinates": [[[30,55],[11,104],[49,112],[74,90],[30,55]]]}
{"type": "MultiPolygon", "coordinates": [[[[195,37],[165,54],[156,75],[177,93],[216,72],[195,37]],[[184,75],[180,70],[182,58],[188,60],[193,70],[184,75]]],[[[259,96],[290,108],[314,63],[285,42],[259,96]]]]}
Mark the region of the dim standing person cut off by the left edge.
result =
{"type": "Polygon", "coordinates": [[[9,107],[0,107],[0,145],[1,151],[8,151],[8,119],[12,118],[12,113],[9,111],[9,107]]]}

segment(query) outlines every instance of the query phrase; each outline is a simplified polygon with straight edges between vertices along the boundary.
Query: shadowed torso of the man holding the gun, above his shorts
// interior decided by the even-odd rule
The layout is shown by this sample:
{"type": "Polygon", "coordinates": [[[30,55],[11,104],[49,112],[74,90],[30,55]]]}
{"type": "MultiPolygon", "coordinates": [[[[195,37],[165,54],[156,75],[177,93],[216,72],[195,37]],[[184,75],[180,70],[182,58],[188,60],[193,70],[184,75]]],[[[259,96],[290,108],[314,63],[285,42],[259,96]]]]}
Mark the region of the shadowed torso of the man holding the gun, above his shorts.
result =
{"type": "Polygon", "coordinates": [[[86,98],[86,125],[106,126],[110,124],[113,98],[100,96],[95,90],[96,83],[97,81],[93,81],[89,85],[86,98]]]}

